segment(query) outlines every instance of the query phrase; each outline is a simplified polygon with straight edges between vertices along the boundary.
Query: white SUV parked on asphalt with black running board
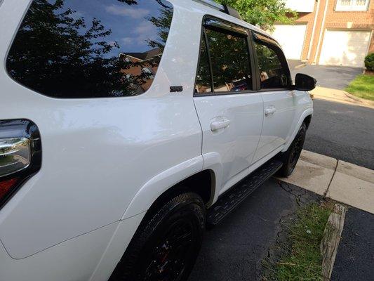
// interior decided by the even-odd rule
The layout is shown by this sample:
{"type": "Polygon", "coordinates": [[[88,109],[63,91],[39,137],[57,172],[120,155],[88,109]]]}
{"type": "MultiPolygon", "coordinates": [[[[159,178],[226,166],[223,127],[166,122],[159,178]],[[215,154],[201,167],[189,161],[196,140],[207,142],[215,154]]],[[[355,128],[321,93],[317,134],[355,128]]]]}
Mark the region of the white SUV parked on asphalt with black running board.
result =
{"type": "Polygon", "coordinates": [[[0,3],[1,281],[187,280],[206,224],[293,171],[316,81],[232,8],[0,3]]]}

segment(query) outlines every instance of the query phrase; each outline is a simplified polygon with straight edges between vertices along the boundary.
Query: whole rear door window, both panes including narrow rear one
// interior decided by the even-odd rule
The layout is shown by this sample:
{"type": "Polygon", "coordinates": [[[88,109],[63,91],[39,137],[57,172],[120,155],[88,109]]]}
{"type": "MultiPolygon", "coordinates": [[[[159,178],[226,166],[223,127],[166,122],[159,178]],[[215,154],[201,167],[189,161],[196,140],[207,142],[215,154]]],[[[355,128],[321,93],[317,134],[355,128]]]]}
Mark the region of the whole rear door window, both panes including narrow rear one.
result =
{"type": "MultiPolygon", "coordinates": [[[[248,39],[222,22],[203,29],[195,93],[240,93],[253,89],[248,39]],[[213,83],[212,83],[213,82],[213,83]],[[213,84],[213,91],[211,89],[213,84]]],[[[239,29],[239,27],[237,27],[239,29]]]]}

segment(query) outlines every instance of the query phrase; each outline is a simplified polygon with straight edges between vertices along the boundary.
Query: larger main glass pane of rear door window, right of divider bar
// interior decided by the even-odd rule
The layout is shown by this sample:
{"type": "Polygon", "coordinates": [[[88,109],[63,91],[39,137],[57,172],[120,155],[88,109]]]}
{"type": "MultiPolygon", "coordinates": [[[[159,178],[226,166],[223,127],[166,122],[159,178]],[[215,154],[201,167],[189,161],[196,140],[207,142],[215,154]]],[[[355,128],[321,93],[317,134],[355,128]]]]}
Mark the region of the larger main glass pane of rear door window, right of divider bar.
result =
{"type": "Polygon", "coordinates": [[[246,37],[206,30],[215,92],[252,89],[246,37]]]}

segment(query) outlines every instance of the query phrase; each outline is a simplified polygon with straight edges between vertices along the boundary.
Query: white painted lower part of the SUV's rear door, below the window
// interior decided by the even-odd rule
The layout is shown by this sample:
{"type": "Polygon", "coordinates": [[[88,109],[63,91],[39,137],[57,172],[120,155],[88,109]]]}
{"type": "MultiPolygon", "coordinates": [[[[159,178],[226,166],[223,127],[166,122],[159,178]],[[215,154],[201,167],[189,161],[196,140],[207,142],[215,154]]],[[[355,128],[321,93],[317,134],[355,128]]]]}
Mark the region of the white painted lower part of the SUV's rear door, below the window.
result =
{"type": "MultiPolygon", "coordinates": [[[[261,135],[263,108],[259,93],[239,93],[195,97],[194,103],[203,129],[203,154],[218,152],[225,185],[232,177],[248,169],[261,135]],[[211,130],[212,122],[228,119],[226,128],[211,130]]],[[[217,178],[217,177],[216,177],[217,178]]],[[[222,186],[217,186],[220,192],[222,186]]]]}

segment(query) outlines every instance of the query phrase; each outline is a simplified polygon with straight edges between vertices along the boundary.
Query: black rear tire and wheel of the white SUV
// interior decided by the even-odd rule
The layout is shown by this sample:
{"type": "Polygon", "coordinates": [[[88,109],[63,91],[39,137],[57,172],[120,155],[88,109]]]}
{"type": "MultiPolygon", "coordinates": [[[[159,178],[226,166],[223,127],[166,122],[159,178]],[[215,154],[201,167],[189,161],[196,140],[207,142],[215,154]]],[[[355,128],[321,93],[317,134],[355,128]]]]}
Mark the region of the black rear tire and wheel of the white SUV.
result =
{"type": "Polygon", "coordinates": [[[147,214],[109,281],[185,281],[201,248],[205,205],[185,192],[147,214]]]}

